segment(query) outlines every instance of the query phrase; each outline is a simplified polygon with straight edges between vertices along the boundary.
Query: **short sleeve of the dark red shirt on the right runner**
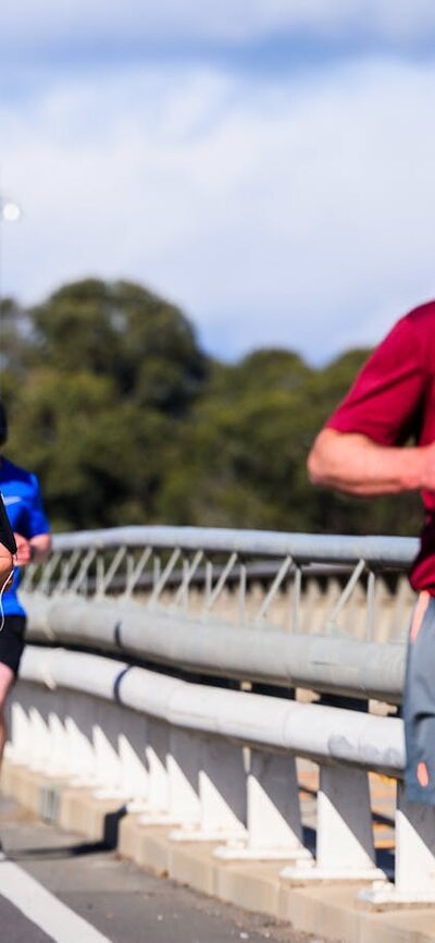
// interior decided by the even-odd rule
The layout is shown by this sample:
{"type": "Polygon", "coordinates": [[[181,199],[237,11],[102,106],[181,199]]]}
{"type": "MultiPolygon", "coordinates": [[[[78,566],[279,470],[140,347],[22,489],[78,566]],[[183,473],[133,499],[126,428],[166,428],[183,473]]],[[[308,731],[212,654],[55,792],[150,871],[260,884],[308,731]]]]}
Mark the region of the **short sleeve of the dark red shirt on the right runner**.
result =
{"type": "Polygon", "coordinates": [[[427,379],[422,347],[407,315],[369,358],[326,428],[359,432],[381,445],[399,445],[417,436],[427,379]]]}

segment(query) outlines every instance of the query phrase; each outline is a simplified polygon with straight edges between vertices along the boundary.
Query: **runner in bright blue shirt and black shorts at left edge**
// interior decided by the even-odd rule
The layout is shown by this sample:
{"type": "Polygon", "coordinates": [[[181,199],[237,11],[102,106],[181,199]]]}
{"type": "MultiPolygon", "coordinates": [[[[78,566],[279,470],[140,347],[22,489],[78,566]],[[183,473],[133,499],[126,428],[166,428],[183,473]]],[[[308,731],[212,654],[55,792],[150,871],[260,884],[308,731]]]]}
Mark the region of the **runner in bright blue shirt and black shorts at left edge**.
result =
{"type": "MultiPolygon", "coordinates": [[[[0,403],[0,449],[8,438],[8,422],[0,403]]],[[[51,547],[38,479],[0,454],[0,493],[16,541],[15,563],[26,566],[44,560],[51,547]]],[[[4,624],[0,632],[0,761],[7,738],[4,706],[17,675],[25,644],[26,614],[16,595],[20,571],[2,596],[4,624]]],[[[0,621],[1,624],[1,621],[0,621]]]]}

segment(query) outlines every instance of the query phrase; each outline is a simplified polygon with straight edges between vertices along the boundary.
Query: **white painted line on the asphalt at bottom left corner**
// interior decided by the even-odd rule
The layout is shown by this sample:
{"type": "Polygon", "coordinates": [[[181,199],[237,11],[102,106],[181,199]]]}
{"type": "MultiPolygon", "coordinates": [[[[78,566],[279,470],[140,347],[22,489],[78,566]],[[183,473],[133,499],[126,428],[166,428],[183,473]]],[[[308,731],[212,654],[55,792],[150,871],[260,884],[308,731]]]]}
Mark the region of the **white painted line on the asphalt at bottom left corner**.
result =
{"type": "Polygon", "coordinates": [[[12,861],[0,861],[0,894],[55,943],[110,943],[12,861]]]}

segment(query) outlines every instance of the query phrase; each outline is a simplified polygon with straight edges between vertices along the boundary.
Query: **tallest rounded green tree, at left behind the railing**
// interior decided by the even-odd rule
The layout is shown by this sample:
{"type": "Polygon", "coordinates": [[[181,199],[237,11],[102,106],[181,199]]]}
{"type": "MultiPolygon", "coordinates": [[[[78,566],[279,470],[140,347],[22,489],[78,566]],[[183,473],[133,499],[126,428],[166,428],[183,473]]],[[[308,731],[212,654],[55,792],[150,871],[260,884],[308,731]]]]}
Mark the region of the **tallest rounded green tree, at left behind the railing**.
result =
{"type": "Polygon", "coordinates": [[[54,526],[153,522],[208,371],[194,329],[145,289],[97,280],[65,285],[27,318],[28,348],[17,358],[7,345],[9,451],[40,476],[54,526]]]}

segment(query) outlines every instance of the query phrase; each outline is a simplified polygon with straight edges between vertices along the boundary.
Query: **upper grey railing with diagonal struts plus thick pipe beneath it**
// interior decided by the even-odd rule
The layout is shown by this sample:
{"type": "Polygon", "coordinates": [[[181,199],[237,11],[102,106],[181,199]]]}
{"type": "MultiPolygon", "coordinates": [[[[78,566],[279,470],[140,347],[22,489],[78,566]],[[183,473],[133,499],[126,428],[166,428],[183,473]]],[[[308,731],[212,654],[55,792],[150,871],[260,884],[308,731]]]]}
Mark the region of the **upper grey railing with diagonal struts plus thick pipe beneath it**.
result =
{"type": "Polygon", "coordinates": [[[60,535],[25,573],[29,638],[398,703],[415,549],[202,528],[60,535]]]}

